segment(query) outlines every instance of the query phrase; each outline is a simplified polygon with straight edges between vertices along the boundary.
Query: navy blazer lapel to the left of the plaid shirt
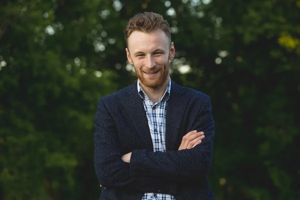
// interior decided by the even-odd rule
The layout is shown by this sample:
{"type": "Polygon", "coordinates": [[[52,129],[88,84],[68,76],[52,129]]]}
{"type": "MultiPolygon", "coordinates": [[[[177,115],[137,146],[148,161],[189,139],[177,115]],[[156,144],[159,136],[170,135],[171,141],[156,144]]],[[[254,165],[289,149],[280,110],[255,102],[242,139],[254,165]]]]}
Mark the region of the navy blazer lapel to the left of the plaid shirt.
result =
{"type": "Polygon", "coordinates": [[[127,92],[124,92],[123,96],[124,97],[121,102],[125,108],[125,112],[131,119],[132,124],[140,135],[145,147],[153,150],[153,143],[145,108],[143,106],[142,98],[137,92],[137,80],[128,87],[127,92]]]}

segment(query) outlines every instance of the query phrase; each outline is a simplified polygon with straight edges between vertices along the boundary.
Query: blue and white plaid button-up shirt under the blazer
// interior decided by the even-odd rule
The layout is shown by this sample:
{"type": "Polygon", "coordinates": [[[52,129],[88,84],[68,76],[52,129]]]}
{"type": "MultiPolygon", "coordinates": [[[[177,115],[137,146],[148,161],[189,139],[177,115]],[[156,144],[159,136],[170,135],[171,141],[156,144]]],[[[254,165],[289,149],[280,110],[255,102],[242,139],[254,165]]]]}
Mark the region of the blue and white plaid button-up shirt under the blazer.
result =
{"type": "MultiPolygon", "coordinates": [[[[137,91],[140,97],[143,99],[154,152],[165,152],[166,102],[170,95],[170,88],[171,79],[169,78],[169,83],[164,91],[164,94],[153,104],[141,88],[139,81],[137,81],[137,91]]],[[[170,194],[148,192],[142,196],[141,200],[175,200],[175,197],[170,194]]]]}

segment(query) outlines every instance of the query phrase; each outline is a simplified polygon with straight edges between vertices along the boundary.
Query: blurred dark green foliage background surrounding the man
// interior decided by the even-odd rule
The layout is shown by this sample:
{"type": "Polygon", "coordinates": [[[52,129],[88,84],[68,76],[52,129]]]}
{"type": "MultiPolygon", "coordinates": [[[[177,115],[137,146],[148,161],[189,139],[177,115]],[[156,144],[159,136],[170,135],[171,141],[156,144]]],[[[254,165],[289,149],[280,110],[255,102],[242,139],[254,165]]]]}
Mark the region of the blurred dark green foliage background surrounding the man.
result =
{"type": "Polygon", "coordinates": [[[211,97],[216,199],[300,199],[300,0],[0,0],[0,199],[99,198],[97,99],[135,80],[142,11],[170,24],[171,78],[211,97]]]}

